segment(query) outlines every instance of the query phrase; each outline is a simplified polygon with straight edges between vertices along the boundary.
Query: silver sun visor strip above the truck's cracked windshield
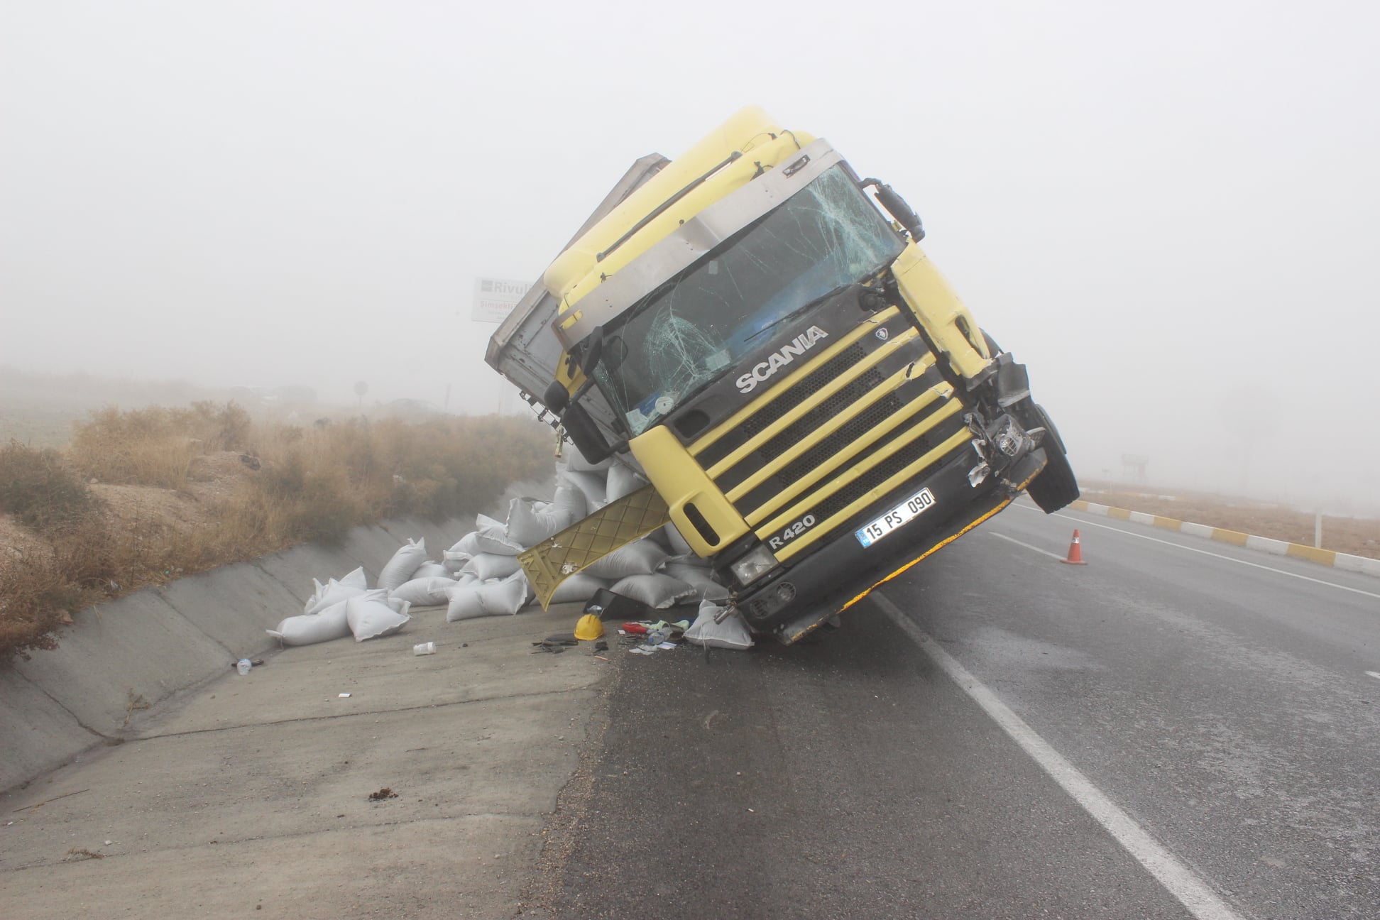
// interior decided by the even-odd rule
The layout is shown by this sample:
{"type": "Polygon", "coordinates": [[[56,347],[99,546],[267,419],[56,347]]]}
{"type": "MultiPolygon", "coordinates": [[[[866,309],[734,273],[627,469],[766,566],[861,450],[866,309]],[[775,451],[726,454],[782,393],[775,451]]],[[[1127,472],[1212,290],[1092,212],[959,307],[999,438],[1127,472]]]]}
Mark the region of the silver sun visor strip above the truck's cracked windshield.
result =
{"type": "Polygon", "coordinates": [[[552,323],[566,350],[584,341],[596,327],[613,324],[651,291],[805,189],[827,168],[843,161],[824,139],[806,145],[805,152],[810,161],[793,175],[769,170],[687,219],[584,297],[567,302],[566,312],[552,323]]]}

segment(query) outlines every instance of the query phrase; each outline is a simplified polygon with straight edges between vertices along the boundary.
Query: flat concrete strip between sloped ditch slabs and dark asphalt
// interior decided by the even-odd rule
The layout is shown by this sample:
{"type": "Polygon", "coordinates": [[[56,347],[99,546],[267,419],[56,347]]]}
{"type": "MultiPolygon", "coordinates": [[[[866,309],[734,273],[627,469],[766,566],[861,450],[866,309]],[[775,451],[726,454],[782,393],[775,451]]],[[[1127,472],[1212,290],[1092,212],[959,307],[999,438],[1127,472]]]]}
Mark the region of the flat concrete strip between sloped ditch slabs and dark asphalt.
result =
{"type": "Polygon", "coordinates": [[[531,654],[577,611],[421,611],[137,716],[0,796],[0,916],[512,916],[607,673],[588,647],[531,654]]]}

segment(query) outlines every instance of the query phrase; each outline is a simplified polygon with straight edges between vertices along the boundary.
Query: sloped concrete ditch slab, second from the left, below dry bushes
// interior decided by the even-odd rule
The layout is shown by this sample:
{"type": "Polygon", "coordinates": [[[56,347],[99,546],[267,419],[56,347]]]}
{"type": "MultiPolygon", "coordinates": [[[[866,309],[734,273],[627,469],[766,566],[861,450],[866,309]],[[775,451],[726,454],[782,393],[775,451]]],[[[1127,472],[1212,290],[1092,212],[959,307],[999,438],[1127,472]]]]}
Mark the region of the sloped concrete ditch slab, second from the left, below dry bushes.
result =
{"type": "Polygon", "coordinates": [[[14,669],[83,726],[113,735],[141,708],[228,673],[232,652],[152,588],[73,617],[52,651],[14,669]]]}

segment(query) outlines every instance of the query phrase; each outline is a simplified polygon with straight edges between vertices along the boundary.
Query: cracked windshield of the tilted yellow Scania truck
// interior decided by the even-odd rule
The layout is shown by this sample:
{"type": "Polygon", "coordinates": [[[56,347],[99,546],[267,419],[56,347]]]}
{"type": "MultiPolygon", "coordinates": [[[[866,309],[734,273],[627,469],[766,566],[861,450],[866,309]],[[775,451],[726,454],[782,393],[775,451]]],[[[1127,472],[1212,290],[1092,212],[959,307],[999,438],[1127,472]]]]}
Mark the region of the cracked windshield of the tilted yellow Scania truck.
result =
{"type": "Polygon", "coordinates": [[[842,166],[657,290],[595,372],[631,434],[647,430],[825,294],[890,263],[901,240],[842,166]]]}

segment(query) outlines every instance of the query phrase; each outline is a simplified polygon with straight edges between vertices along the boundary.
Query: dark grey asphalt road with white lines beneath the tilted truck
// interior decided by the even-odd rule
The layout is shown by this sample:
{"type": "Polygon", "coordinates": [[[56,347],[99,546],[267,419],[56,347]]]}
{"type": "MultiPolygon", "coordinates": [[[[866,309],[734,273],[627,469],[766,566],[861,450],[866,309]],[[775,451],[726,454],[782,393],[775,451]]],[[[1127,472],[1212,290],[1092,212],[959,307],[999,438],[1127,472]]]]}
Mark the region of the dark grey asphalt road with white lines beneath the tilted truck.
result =
{"type": "Polygon", "coordinates": [[[1380,916],[1380,581],[1014,506],[880,593],[615,650],[529,913],[1380,916]]]}

